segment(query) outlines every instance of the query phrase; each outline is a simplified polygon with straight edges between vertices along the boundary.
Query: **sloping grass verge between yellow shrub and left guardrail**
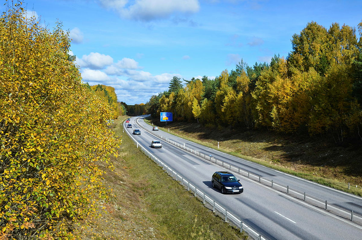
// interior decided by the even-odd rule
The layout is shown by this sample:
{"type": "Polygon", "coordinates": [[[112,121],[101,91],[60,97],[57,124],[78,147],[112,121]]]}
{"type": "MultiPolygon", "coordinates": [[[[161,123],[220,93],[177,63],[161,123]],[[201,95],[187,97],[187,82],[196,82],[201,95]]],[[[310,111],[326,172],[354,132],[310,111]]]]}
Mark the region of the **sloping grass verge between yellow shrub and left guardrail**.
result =
{"type": "Polygon", "coordinates": [[[114,123],[122,146],[104,176],[110,201],[85,220],[82,239],[247,239],[143,155],[122,132],[125,118],[114,123]]]}

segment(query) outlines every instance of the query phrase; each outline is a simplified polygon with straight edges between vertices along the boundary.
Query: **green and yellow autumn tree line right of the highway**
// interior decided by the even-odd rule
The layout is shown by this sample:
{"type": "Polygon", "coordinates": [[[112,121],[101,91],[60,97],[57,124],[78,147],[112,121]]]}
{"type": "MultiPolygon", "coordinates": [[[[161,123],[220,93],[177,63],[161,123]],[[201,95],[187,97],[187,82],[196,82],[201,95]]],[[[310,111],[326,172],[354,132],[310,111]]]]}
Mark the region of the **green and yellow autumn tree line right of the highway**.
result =
{"type": "Polygon", "coordinates": [[[154,95],[147,111],[159,117],[173,112],[176,121],[244,130],[332,133],[342,141],[351,134],[362,140],[362,22],[356,30],[333,23],[329,29],[310,22],[292,36],[292,51],[270,63],[248,66],[211,80],[182,85],[174,76],[169,90],[154,95]]]}

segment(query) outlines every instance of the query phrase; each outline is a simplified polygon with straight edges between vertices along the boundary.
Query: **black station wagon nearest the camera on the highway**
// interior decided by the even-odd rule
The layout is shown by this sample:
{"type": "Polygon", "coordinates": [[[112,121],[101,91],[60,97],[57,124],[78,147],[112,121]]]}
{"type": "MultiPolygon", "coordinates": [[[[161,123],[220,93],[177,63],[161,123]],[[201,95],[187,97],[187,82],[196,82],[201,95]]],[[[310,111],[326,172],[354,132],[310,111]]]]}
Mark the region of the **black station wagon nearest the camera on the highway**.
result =
{"type": "Polygon", "coordinates": [[[222,194],[242,193],[243,185],[230,172],[215,172],[212,174],[211,183],[213,188],[219,188],[222,194]]]}

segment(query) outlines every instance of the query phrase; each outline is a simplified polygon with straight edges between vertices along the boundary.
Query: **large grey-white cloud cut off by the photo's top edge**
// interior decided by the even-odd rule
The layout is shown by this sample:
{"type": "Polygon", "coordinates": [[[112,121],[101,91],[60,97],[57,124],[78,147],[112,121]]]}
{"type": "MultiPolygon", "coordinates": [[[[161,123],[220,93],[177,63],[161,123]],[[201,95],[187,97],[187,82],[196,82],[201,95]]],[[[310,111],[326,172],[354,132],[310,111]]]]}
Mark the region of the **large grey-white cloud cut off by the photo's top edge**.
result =
{"type": "Polygon", "coordinates": [[[200,9],[198,0],[100,0],[100,3],[124,18],[141,21],[168,18],[173,13],[195,13],[200,9]]]}

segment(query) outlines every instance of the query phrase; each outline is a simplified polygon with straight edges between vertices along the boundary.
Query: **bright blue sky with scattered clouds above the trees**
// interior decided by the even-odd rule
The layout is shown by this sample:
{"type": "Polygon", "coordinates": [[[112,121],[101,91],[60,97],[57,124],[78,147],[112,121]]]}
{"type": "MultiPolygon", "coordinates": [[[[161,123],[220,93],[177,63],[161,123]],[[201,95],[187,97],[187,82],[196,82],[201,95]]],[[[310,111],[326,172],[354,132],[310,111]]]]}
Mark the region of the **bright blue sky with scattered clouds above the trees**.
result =
{"type": "Polygon", "coordinates": [[[328,29],[362,21],[361,0],[25,0],[24,6],[50,29],[61,21],[83,80],[114,87],[129,105],[168,90],[173,76],[214,78],[241,59],[252,66],[287,56],[292,35],[308,22],[328,29]]]}

